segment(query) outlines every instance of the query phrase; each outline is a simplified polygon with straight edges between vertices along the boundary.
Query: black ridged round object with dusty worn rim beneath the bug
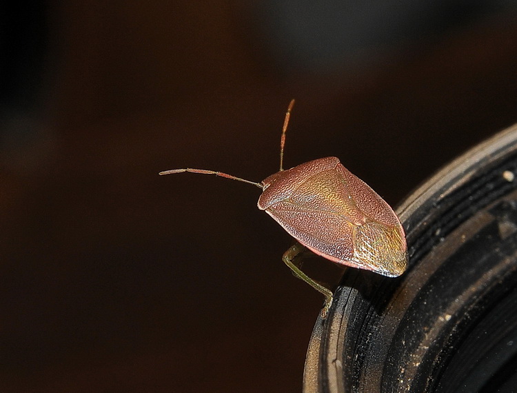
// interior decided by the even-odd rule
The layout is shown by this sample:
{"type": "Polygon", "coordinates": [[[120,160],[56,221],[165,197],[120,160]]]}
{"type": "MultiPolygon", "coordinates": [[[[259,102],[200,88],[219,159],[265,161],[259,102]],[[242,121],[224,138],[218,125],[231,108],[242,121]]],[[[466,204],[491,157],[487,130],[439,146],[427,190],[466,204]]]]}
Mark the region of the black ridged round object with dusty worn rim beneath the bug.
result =
{"type": "Polygon", "coordinates": [[[517,125],[398,208],[409,268],[349,269],[314,327],[304,392],[514,392],[517,125]]]}

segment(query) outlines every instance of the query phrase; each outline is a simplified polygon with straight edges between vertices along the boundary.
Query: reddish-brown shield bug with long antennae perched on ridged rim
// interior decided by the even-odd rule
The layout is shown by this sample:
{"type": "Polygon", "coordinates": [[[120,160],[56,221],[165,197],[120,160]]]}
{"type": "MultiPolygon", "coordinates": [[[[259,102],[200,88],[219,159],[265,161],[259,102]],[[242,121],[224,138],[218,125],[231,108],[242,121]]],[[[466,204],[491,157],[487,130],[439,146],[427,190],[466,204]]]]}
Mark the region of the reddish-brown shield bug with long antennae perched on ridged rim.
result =
{"type": "Polygon", "coordinates": [[[285,113],[280,141],[280,170],[256,183],[214,170],[182,168],[160,172],[214,174],[262,189],[258,206],[298,241],[283,254],[295,276],[325,296],[323,318],[332,291],[300,268],[305,248],[341,265],[399,276],[407,266],[407,245],[401,222],[372,188],[349,172],[336,157],[283,169],[285,133],[294,100],[285,113]]]}

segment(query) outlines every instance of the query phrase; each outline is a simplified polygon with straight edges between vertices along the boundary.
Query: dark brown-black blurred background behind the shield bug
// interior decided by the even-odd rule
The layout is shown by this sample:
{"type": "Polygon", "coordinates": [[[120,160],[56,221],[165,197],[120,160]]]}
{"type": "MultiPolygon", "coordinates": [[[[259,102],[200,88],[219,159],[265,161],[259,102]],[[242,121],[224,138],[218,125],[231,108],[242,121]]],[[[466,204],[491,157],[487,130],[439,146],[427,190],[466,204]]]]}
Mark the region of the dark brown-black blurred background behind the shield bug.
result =
{"type": "Polygon", "coordinates": [[[323,303],[243,183],[396,205],[517,121],[516,1],[3,1],[0,391],[299,392],[323,303]]]}

